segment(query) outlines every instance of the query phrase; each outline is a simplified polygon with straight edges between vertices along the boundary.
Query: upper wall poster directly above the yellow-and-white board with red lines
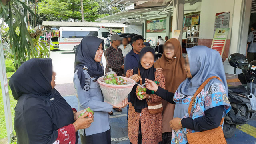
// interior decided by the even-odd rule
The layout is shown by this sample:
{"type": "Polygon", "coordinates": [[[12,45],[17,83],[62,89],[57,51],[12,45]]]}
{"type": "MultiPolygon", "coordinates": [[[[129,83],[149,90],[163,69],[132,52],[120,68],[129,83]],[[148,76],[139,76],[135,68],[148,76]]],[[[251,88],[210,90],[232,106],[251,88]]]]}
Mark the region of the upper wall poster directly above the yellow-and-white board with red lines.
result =
{"type": "Polygon", "coordinates": [[[220,12],[215,14],[214,31],[217,28],[228,28],[230,12],[220,12]]]}

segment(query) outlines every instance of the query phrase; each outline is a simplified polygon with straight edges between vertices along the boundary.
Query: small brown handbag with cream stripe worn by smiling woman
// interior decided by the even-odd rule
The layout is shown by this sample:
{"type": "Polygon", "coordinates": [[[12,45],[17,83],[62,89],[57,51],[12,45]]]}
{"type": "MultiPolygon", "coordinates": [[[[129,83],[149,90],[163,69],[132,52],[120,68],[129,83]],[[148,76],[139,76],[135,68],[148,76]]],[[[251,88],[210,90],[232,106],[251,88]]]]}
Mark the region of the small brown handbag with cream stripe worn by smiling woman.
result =
{"type": "MultiPolygon", "coordinates": [[[[138,69],[138,74],[140,76],[140,69],[138,69]]],[[[140,85],[142,85],[142,80],[140,80],[140,85]]],[[[148,111],[149,111],[150,114],[158,114],[158,113],[160,113],[164,110],[162,101],[160,101],[160,102],[149,102],[149,100],[147,100],[147,103],[148,103],[148,111]]]]}

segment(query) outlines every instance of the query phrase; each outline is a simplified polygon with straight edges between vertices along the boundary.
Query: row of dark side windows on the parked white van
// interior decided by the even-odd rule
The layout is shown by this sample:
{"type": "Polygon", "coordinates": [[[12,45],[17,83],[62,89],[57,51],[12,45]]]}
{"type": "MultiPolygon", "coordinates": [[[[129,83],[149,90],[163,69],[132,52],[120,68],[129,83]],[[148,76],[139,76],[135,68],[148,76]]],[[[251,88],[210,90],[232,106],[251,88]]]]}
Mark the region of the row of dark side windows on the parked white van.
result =
{"type": "Polygon", "coordinates": [[[97,31],[62,31],[62,38],[84,38],[86,36],[98,36],[97,31]]]}

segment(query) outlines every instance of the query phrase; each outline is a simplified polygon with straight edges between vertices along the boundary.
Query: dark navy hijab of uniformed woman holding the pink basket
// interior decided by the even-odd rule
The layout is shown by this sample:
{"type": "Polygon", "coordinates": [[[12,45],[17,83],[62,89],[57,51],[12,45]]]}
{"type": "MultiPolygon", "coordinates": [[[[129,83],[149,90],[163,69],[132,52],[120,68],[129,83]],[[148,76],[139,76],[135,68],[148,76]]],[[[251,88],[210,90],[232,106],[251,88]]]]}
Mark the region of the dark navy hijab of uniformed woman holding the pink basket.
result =
{"type": "Polygon", "coordinates": [[[91,77],[98,79],[104,75],[103,66],[100,62],[94,60],[100,44],[104,46],[104,40],[97,38],[96,36],[86,36],[76,48],[75,72],[78,70],[77,75],[80,80],[81,88],[84,88],[85,83],[85,74],[82,70],[84,66],[91,77]]]}

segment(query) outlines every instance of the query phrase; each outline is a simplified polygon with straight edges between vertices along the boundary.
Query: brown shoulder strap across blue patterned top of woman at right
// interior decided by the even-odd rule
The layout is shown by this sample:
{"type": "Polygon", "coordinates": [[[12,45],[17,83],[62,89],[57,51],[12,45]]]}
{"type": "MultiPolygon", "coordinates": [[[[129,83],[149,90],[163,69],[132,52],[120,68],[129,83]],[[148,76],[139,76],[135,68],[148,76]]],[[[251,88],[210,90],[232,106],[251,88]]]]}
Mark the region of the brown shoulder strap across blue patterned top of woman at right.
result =
{"type": "Polygon", "coordinates": [[[210,80],[212,80],[212,79],[214,79],[214,78],[216,78],[216,79],[218,79],[218,80],[220,80],[220,81],[222,82],[222,80],[221,80],[219,77],[217,77],[217,76],[212,76],[212,77],[208,78],[206,81],[204,81],[204,82],[202,83],[202,85],[196,90],[196,93],[194,94],[194,96],[192,96],[191,101],[190,101],[189,106],[188,106],[189,118],[190,118],[190,115],[193,114],[193,113],[191,112],[191,109],[192,109],[193,104],[196,102],[196,96],[202,91],[202,89],[204,89],[204,86],[205,86],[206,84],[208,84],[208,82],[210,82],[210,80]]]}

